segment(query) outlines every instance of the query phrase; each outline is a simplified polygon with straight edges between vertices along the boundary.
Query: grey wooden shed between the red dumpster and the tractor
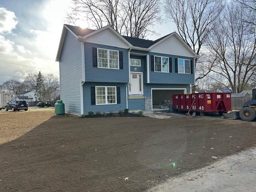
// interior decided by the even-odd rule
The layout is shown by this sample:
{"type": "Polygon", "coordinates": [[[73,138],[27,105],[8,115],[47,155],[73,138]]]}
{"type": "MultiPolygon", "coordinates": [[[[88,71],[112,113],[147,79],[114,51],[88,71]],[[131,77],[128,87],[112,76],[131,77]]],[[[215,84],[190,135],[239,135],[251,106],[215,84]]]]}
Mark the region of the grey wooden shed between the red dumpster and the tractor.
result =
{"type": "Polygon", "coordinates": [[[251,100],[248,93],[232,93],[231,94],[231,108],[242,109],[245,102],[251,100]]]}

